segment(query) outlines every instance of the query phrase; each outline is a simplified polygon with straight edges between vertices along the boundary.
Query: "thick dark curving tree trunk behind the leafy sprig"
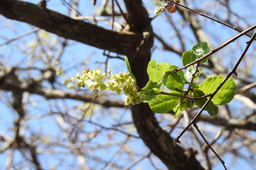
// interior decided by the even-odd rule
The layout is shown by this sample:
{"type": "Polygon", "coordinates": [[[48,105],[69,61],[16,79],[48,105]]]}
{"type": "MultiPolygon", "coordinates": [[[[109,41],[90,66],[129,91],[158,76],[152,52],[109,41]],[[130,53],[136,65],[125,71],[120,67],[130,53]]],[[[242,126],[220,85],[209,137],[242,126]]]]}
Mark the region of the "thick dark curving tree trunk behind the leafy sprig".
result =
{"type": "MultiPolygon", "coordinates": [[[[134,25],[135,29],[139,30],[141,34],[150,33],[150,36],[144,37],[139,50],[129,57],[132,72],[137,77],[137,85],[142,88],[148,82],[147,65],[151,58],[151,48],[153,46],[151,22],[141,0],[136,2],[125,0],[124,2],[128,12],[127,19],[134,25]]],[[[185,151],[180,146],[168,150],[173,139],[159,126],[147,103],[131,106],[131,111],[138,134],[146,146],[163,161],[168,169],[204,169],[195,159],[195,151],[185,151]]]]}

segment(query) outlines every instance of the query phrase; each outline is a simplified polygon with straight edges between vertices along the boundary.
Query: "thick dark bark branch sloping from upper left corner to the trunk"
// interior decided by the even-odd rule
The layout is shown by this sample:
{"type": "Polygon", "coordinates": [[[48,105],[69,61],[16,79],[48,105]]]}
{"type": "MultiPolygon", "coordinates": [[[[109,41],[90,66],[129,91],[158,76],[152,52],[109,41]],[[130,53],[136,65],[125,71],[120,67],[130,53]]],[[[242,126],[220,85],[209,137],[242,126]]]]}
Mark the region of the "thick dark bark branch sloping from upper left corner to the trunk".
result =
{"type": "Polygon", "coordinates": [[[107,30],[23,1],[0,1],[0,14],[9,19],[35,25],[61,37],[118,54],[132,55],[142,39],[133,32],[107,30]]]}

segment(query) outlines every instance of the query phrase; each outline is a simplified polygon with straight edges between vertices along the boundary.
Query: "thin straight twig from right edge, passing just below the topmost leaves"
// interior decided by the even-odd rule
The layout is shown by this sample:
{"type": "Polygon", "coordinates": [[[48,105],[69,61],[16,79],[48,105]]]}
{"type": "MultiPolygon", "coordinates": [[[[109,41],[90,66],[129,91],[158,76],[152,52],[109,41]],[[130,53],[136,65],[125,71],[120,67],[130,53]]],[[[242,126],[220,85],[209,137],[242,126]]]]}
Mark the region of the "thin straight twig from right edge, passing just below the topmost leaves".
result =
{"type": "Polygon", "coordinates": [[[253,25],[252,27],[248,28],[247,30],[241,32],[240,34],[234,36],[233,38],[231,38],[230,40],[228,40],[226,43],[218,46],[217,48],[213,49],[210,53],[206,54],[205,56],[201,57],[201,58],[198,58],[196,59],[195,61],[191,62],[190,64],[187,64],[186,66],[184,67],[180,67],[178,69],[174,69],[175,72],[179,71],[179,70],[183,70],[183,69],[186,69],[188,68],[189,66],[192,66],[193,64],[196,64],[200,61],[202,61],[203,59],[209,57],[210,55],[216,53],[217,51],[219,51],[220,49],[226,47],[228,44],[234,42],[235,40],[237,40],[239,37],[243,36],[244,34],[246,34],[247,32],[250,32],[252,30],[254,30],[256,28],[256,25],[253,25]]]}

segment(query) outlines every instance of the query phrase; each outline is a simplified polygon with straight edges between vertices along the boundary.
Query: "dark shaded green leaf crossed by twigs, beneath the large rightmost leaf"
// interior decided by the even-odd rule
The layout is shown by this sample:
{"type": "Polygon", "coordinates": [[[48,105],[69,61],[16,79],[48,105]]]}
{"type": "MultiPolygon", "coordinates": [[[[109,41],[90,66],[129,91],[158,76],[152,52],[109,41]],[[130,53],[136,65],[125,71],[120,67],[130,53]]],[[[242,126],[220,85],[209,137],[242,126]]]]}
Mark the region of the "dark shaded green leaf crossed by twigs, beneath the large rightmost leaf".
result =
{"type": "MultiPolygon", "coordinates": [[[[205,95],[204,92],[200,90],[194,91],[194,97],[196,98],[202,97],[204,95],[205,95]]],[[[207,101],[207,98],[196,100],[196,106],[198,106],[199,108],[202,108],[206,103],[206,101],[207,101]]],[[[218,114],[219,108],[212,101],[210,101],[204,110],[206,110],[210,116],[216,116],[218,114]]]]}

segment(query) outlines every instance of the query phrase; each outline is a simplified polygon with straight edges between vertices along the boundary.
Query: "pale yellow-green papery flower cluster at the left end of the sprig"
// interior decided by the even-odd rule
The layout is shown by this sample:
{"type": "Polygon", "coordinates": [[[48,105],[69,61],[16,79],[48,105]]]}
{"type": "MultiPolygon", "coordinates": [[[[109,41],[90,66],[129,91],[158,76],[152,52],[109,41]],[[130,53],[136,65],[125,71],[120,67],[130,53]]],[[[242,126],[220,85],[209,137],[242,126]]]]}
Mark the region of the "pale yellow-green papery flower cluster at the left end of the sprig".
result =
{"type": "Polygon", "coordinates": [[[100,91],[111,90],[116,91],[118,94],[124,91],[124,94],[127,96],[125,105],[129,105],[130,103],[133,105],[138,104],[144,100],[145,95],[137,93],[137,86],[134,85],[134,80],[129,73],[121,73],[120,71],[119,74],[113,74],[111,70],[108,70],[108,73],[111,76],[106,76],[106,73],[101,72],[99,68],[97,68],[96,71],[91,69],[88,73],[83,71],[82,76],[79,76],[79,73],[77,73],[77,86],[88,86],[91,91],[94,90],[94,88],[100,91]],[[104,79],[107,81],[103,82],[104,79]]]}

